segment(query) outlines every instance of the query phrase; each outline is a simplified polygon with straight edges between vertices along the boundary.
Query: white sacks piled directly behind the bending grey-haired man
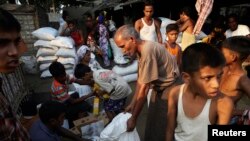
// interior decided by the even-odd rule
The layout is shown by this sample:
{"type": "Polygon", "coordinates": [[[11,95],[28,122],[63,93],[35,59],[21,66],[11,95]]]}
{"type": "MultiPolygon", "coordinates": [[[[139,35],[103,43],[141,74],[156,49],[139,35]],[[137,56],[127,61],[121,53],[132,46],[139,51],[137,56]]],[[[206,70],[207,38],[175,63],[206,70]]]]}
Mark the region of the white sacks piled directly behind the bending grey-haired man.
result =
{"type": "Polygon", "coordinates": [[[138,78],[138,61],[134,60],[129,63],[130,60],[124,58],[122,50],[117,47],[114,39],[110,38],[109,41],[113,50],[114,62],[117,64],[112,68],[112,70],[122,76],[127,82],[136,81],[138,78]]]}

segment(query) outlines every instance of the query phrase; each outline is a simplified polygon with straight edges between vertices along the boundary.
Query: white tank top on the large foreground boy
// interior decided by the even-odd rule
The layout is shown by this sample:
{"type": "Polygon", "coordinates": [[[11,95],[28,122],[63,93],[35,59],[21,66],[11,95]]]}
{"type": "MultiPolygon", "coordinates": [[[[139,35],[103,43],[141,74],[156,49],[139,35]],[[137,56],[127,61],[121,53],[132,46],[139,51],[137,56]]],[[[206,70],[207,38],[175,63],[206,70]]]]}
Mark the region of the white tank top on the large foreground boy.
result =
{"type": "Polygon", "coordinates": [[[185,84],[180,88],[178,98],[177,127],[175,128],[176,141],[207,141],[209,121],[209,109],[211,99],[208,99],[202,112],[194,118],[186,117],[183,110],[182,95],[185,84]]]}

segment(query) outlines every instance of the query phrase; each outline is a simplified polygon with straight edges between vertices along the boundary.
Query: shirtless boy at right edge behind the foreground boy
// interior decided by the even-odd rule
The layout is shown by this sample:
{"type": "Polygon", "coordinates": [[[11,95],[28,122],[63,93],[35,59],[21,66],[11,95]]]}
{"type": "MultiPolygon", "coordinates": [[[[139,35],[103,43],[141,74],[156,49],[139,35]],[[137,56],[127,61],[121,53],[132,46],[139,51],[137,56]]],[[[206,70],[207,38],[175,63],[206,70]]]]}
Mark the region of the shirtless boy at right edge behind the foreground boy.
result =
{"type": "MultiPolygon", "coordinates": [[[[226,66],[222,75],[220,90],[231,97],[235,106],[243,95],[250,97],[250,79],[242,67],[242,63],[250,54],[250,39],[245,36],[227,38],[221,48],[226,58],[226,66]]],[[[240,110],[234,110],[234,115],[240,115],[240,110]]]]}

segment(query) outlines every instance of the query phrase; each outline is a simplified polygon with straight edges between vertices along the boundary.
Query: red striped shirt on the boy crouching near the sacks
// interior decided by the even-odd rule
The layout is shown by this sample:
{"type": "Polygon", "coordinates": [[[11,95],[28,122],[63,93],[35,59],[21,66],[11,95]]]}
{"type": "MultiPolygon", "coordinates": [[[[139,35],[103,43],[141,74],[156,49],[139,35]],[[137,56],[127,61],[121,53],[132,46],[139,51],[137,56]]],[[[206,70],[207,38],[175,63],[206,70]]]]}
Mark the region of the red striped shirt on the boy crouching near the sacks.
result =
{"type": "Polygon", "coordinates": [[[52,99],[59,102],[65,102],[69,99],[70,95],[68,94],[68,86],[61,84],[58,81],[54,80],[51,86],[52,99]]]}

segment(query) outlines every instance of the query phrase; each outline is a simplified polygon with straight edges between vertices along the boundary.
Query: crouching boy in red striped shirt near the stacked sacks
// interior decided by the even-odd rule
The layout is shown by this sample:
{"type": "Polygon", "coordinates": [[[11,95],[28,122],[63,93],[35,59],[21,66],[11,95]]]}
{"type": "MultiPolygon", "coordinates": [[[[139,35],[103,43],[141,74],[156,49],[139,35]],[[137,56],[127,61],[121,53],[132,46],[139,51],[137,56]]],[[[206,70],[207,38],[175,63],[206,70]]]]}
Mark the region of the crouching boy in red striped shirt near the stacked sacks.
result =
{"type": "Polygon", "coordinates": [[[85,99],[91,97],[93,94],[91,93],[82,97],[79,97],[78,93],[69,95],[69,83],[72,80],[69,79],[63,64],[60,62],[53,62],[49,66],[49,71],[54,78],[51,86],[52,100],[66,104],[66,118],[69,120],[69,126],[72,127],[73,120],[82,117],[86,112],[92,111],[92,107],[85,99]]]}

